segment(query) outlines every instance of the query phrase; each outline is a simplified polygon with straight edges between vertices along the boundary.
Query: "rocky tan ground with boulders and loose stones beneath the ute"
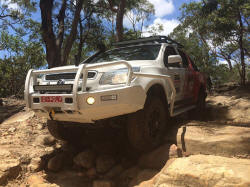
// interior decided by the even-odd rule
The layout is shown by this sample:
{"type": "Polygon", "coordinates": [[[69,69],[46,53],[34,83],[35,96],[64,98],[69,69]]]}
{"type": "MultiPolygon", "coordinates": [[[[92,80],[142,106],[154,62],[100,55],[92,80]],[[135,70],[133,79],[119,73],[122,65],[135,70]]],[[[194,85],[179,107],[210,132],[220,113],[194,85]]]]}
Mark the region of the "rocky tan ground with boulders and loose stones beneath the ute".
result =
{"type": "Polygon", "coordinates": [[[162,145],[144,154],[109,129],[84,146],[57,141],[23,101],[3,99],[0,186],[250,186],[250,90],[217,91],[202,120],[172,119],[162,145]]]}

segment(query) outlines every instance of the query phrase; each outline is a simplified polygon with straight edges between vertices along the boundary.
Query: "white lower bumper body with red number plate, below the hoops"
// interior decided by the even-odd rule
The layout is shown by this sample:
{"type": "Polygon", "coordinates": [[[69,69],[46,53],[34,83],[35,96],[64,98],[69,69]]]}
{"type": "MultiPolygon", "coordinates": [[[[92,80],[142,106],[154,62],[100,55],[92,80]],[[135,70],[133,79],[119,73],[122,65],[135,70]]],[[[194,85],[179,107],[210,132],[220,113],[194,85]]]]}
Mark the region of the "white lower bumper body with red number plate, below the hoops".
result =
{"type": "MultiPolygon", "coordinates": [[[[143,108],[146,93],[141,86],[124,86],[108,90],[82,92],[77,94],[76,103],[66,103],[66,98],[72,98],[72,94],[31,94],[31,109],[39,116],[58,121],[72,121],[80,123],[92,123],[96,120],[133,113],[143,108]],[[34,98],[42,96],[61,96],[60,103],[34,103],[34,98]],[[109,100],[108,96],[114,96],[109,100]],[[93,97],[95,103],[87,104],[87,98],[93,97]],[[103,99],[105,98],[105,99],[103,99]],[[78,110],[75,110],[75,104],[78,110]],[[50,113],[53,110],[53,113],[50,113]],[[51,116],[53,115],[53,116],[51,116]]],[[[72,98],[73,99],[73,98],[72,98]]]]}

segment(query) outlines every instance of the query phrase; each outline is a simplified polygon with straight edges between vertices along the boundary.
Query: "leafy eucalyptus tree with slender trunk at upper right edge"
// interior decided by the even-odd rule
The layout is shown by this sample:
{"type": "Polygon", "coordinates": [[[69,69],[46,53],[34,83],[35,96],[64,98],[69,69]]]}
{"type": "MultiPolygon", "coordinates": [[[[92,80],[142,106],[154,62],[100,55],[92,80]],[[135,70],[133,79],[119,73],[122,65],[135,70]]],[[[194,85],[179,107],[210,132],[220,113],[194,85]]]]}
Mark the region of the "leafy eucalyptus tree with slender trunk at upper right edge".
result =
{"type": "Polygon", "coordinates": [[[239,63],[240,82],[245,85],[245,59],[249,54],[249,13],[247,0],[213,0],[183,4],[181,25],[195,33],[204,50],[205,64],[210,56],[239,63]]]}

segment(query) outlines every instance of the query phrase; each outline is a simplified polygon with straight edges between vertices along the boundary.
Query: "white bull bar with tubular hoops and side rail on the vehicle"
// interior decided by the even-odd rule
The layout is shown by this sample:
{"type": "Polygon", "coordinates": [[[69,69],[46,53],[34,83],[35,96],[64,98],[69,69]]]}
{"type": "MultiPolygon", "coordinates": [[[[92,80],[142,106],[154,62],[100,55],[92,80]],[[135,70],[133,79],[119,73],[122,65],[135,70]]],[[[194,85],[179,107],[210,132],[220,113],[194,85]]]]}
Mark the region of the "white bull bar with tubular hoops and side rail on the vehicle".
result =
{"type": "Polygon", "coordinates": [[[136,112],[144,107],[146,100],[146,91],[140,85],[131,85],[132,77],[159,78],[167,80],[172,89],[171,96],[171,113],[173,111],[175,88],[170,76],[145,74],[133,72],[132,66],[126,61],[117,61],[99,64],[82,64],[79,67],[70,69],[48,69],[48,70],[30,70],[25,81],[24,97],[26,106],[37,112],[41,116],[53,118],[58,121],[72,121],[80,123],[91,123],[96,120],[115,117],[123,114],[136,112]],[[128,68],[128,78],[126,84],[121,87],[112,89],[87,91],[87,74],[88,70],[99,67],[110,67],[114,65],[125,65],[128,68]],[[33,86],[37,85],[39,74],[60,73],[60,72],[77,72],[73,81],[73,89],[71,94],[38,94],[34,91],[33,86]],[[80,77],[83,75],[81,88],[79,90],[80,77]],[[102,100],[113,96],[116,100],[102,100]],[[41,101],[42,96],[61,96],[60,102],[37,102],[34,98],[41,101]],[[95,98],[93,105],[88,105],[86,100],[88,97],[95,98]],[[65,102],[70,98],[72,102],[65,102]]]}

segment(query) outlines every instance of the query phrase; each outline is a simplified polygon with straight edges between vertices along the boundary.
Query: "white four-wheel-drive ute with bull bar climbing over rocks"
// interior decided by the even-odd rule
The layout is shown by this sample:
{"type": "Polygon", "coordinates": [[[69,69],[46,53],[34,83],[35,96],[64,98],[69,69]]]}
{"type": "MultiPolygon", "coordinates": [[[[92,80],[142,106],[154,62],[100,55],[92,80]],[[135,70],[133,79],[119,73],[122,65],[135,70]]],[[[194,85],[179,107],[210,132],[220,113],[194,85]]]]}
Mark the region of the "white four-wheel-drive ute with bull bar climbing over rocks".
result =
{"type": "Polygon", "coordinates": [[[79,66],[28,72],[27,107],[47,117],[53,136],[69,140],[74,126],[98,127],[118,116],[142,151],[161,142],[169,117],[204,108],[205,78],[181,44],[155,36],[116,46],[79,66]]]}

